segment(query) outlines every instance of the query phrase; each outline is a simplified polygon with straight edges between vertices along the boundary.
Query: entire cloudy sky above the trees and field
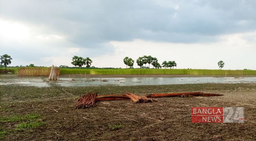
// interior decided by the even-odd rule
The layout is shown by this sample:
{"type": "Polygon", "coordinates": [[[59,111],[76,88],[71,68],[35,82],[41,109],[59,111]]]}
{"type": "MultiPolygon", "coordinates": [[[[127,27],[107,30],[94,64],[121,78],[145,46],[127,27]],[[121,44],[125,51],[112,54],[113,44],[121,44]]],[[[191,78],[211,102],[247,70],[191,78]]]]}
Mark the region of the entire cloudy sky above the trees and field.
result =
{"type": "MultiPolygon", "coordinates": [[[[10,66],[126,68],[124,57],[177,69],[256,69],[255,0],[0,0],[0,55],[10,66]]],[[[148,66],[148,64],[147,64],[148,66]]],[[[151,66],[151,65],[150,65],[151,66]]]]}

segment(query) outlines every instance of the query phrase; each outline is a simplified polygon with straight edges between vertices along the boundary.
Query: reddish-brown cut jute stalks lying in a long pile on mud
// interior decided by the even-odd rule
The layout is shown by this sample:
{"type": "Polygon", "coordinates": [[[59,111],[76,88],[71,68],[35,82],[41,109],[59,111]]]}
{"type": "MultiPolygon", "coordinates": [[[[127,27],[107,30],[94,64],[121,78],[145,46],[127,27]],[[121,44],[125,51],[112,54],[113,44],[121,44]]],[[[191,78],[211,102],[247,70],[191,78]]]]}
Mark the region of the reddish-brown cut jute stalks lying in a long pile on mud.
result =
{"type": "Polygon", "coordinates": [[[158,94],[146,94],[145,96],[137,96],[133,93],[124,93],[123,95],[103,95],[97,96],[97,93],[89,92],[84,96],[81,96],[77,100],[77,104],[75,106],[78,108],[89,108],[93,107],[96,101],[105,101],[105,100],[132,100],[135,103],[147,103],[154,102],[151,98],[160,98],[160,97],[209,97],[209,96],[223,96],[223,94],[215,94],[215,93],[202,93],[202,92],[190,92],[190,93],[158,93],[158,94]]]}

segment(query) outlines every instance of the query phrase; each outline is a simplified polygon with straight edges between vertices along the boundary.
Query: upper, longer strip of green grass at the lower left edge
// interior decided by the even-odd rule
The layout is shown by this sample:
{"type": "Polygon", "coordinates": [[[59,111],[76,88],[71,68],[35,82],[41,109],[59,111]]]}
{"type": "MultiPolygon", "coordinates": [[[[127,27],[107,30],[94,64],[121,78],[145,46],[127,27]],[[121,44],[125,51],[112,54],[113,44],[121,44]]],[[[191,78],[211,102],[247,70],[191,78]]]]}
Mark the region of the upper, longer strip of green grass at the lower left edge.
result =
{"type": "Polygon", "coordinates": [[[0,122],[16,122],[16,121],[33,121],[34,119],[40,118],[39,114],[27,114],[23,116],[15,115],[13,117],[0,117],[0,122]]]}

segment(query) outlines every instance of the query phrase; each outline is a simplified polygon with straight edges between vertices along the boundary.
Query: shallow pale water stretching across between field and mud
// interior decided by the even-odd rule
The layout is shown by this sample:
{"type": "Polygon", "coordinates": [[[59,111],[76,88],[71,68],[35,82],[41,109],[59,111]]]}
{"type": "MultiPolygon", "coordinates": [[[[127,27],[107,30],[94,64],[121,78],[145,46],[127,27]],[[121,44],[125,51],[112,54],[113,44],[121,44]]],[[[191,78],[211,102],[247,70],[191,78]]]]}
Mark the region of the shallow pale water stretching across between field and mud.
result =
{"type": "Polygon", "coordinates": [[[233,78],[233,77],[143,77],[143,78],[59,78],[58,82],[49,82],[47,78],[16,78],[0,79],[0,85],[19,84],[27,86],[48,87],[50,84],[59,86],[100,86],[100,85],[168,85],[168,84],[202,84],[202,83],[254,83],[256,77],[233,78]],[[70,81],[74,79],[75,81],[70,81]]]}

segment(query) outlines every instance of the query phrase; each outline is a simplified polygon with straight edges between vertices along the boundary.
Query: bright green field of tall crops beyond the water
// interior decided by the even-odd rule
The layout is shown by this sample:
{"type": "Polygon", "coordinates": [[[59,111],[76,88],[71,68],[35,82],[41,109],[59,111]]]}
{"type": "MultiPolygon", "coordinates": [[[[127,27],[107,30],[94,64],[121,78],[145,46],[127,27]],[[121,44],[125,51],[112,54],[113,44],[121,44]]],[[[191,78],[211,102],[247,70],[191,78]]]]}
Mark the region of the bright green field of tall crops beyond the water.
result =
{"type": "MultiPolygon", "coordinates": [[[[5,68],[0,68],[4,72],[5,68]]],[[[8,72],[18,74],[19,68],[7,68],[8,72]]],[[[255,70],[218,69],[80,69],[61,68],[60,74],[186,74],[186,75],[256,75],[255,70]]]]}

